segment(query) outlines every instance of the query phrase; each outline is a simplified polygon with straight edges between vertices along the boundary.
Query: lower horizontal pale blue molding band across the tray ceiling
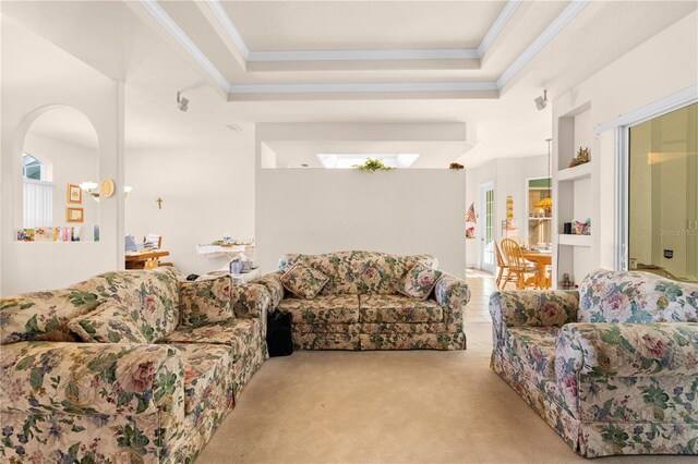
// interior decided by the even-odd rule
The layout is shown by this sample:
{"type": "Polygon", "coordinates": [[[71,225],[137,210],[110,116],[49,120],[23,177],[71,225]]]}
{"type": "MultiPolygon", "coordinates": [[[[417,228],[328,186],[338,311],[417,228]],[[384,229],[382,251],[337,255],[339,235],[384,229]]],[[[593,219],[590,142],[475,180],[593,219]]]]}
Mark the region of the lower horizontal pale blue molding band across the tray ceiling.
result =
{"type": "Polygon", "coordinates": [[[493,82],[380,84],[232,84],[230,86],[231,94],[353,94],[393,91],[497,91],[497,87],[493,82]]]}

